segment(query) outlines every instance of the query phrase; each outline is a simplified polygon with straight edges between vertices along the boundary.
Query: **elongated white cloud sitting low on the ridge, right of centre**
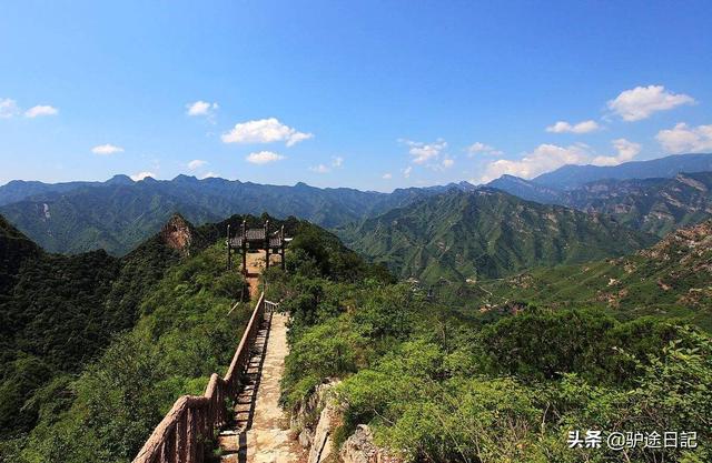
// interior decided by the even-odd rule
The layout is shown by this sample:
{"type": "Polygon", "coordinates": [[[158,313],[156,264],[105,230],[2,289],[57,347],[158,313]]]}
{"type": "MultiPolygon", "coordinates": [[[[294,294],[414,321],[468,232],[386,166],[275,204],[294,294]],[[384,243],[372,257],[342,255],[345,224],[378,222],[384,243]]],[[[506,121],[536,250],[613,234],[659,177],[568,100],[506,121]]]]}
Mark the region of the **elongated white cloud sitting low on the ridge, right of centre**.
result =
{"type": "Polygon", "coordinates": [[[488,182],[504,174],[532,179],[564,164],[582,163],[589,158],[590,148],[585,144],[572,144],[565,148],[556,144],[540,144],[518,161],[498,159],[490,162],[479,182],[488,182]]]}

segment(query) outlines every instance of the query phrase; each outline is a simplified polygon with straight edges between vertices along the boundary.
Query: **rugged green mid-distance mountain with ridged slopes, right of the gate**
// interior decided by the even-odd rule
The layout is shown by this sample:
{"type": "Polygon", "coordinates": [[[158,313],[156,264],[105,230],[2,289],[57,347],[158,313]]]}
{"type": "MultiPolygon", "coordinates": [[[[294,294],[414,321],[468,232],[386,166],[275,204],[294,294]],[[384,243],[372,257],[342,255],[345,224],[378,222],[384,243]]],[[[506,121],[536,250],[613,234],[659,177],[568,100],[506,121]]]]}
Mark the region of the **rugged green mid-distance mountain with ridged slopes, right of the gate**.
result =
{"type": "Polygon", "coordinates": [[[343,231],[347,244],[403,278],[498,278],[533,265],[623,255],[653,242],[600,215],[496,190],[451,191],[343,231]]]}

